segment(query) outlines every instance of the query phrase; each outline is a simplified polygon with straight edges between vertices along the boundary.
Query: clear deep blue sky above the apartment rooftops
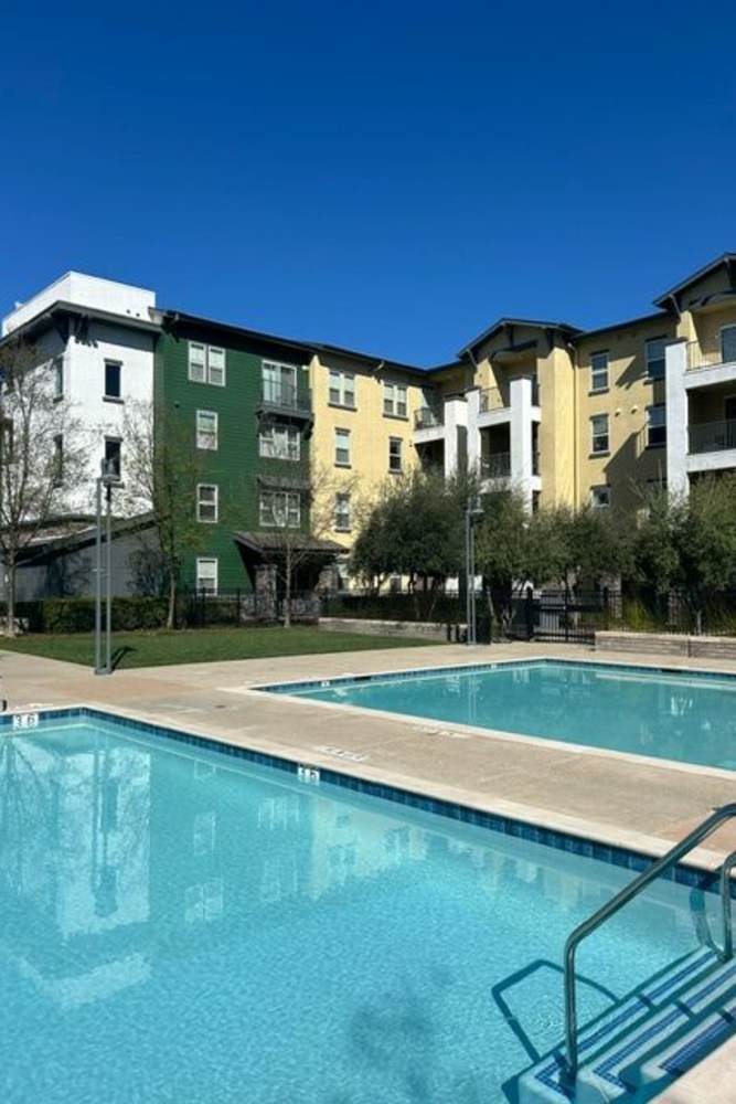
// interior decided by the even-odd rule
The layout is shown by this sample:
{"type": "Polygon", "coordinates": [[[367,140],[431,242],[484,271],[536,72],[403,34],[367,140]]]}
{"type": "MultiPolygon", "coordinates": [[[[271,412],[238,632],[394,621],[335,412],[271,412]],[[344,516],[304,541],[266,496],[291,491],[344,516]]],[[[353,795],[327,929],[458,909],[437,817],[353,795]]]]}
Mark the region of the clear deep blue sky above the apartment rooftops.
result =
{"type": "Polygon", "coordinates": [[[736,250],[736,6],[3,12],[0,312],[68,268],[416,363],[736,250]]]}

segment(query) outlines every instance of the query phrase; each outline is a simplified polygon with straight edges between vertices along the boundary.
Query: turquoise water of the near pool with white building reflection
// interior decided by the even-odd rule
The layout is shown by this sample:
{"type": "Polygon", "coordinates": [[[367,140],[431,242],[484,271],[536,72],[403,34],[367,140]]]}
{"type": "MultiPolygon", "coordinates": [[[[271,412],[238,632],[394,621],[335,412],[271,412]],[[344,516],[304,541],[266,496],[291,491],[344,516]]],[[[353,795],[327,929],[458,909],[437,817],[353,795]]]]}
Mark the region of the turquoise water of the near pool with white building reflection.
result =
{"type": "MultiPolygon", "coordinates": [[[[495,1104],[630,870],[104,721],[0,730],[3,1104],[495,1104]]],[[[582,1021],[694,951],[664,882],[582,1021]]]]}

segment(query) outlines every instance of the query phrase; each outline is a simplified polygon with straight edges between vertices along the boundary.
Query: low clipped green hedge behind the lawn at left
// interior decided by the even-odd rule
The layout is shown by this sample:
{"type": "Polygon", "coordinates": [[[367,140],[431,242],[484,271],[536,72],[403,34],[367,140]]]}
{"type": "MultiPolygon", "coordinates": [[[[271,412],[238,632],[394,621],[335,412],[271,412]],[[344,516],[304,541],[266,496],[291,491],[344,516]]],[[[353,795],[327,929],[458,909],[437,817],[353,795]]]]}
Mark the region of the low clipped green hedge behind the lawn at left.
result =
{"type": "MultiPolygon", "coordinates": [[[[0,603],[0,614],[6,605],[0,603]]],[[[15,616],[26,633],[92,633],[95,628],[94,598],[39,598],[19,602],[15,616]]],[[[113,628],[162,628],[167,620],[166,598],[113,598],[113,628]]]]}

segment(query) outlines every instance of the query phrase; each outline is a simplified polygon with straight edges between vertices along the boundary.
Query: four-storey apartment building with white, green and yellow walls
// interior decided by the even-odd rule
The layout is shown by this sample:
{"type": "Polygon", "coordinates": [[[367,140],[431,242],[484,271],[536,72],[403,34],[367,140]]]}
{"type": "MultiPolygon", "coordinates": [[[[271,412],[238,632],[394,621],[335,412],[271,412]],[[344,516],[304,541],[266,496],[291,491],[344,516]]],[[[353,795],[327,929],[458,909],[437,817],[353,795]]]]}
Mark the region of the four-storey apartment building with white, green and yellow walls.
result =
{"type": "Polygon", "coordinates": [[[306,528],[317,485],[332,521],[314,570],[346,558],[361,509],[417,464],[476,470],[530,509],[633,510],[654,486],[686,492],[704,473],[736,470],[736,254],[653,308],[595,330],[504,317],[456,360],[422,369],[164,309],[153,291],[68,273],[18,305],[1,340],[34,342],[83,416],[81,516],[102,460],[125,480],[134,401],[191,442],[202,538],[184,581],[216,592],[257,585],[269,544],[306,528]]]}

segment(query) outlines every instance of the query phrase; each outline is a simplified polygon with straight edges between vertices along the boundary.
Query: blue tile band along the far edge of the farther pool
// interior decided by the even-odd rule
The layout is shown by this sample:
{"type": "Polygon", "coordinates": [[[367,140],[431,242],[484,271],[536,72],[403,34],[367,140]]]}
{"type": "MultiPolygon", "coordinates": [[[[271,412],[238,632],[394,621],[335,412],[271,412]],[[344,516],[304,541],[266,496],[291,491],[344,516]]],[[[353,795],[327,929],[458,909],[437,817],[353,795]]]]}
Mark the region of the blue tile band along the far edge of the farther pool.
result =
{"type": "Polygon", "coordinates": [[[623,664],[606,662],[600,659],[556,659],[546,656],[532,656],[530,659],[497,659],[483,664],[452,664],[447,667],[413,667],[406,671],[376,671],[372,675],[335,675],[332,678],[305,679],[298,682],[263,682],[249,687],[260,693],[290,694],[300,690],[328,690],[339,686],[359,686],[365,682],[398,682],[405,679],[424,678],[447,675],[484,675],[488,671],[509,670],[513,668],[527,669],[538,667],[566,667],[570,670],[596,668],[601,671],[623,671],[631,675],[668,675],[683,679],[702,679],[723,682],[736,682],[732,671],[695,670],[691,667],[665,667],[659,664],[623,664]]]}

